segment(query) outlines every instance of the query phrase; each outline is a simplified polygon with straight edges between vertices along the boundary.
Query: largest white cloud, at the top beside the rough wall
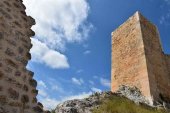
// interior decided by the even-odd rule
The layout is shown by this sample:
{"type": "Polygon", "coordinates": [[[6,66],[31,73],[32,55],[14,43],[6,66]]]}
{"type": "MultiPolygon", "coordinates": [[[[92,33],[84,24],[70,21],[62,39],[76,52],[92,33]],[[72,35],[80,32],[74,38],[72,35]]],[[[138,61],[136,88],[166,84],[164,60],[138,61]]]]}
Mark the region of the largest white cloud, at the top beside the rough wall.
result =
{"type": "Polygon", "coordinates": [[[24,0],[28,15],[36,20],[36,38],[49,48],[64,50],[66,43],[81,42],[93,27],[87,22],[86,0],[24,0]]]}

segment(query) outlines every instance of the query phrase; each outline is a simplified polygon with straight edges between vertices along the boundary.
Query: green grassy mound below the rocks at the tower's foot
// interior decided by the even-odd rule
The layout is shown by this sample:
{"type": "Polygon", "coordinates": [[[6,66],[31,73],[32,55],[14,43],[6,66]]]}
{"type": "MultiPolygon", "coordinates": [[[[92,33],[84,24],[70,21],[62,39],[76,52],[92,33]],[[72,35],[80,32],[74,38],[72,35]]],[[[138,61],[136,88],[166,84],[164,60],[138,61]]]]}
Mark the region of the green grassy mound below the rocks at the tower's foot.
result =
{"type": "Polygon", "coordinates": [[[157,110],[148,106],[137,105],[134,102],[118,97],[111,96],[93,110],[93,113],[166,113],[163,109],[157,110]]]}

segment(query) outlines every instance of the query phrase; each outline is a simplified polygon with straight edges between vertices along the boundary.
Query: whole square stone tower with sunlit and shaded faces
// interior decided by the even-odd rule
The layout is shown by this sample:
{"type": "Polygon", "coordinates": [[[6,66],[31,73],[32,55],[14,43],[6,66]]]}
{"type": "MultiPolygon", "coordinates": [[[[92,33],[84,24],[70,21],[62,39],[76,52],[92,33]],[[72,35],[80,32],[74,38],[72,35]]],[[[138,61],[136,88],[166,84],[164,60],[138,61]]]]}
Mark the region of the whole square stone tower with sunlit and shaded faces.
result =
{"type": "Polygon", "coordinates": [[[153,104],[170,99],[170,56],[163,53],[159,32],[139,12],[112,33],[112,82],[136,86],[153,104]]]}

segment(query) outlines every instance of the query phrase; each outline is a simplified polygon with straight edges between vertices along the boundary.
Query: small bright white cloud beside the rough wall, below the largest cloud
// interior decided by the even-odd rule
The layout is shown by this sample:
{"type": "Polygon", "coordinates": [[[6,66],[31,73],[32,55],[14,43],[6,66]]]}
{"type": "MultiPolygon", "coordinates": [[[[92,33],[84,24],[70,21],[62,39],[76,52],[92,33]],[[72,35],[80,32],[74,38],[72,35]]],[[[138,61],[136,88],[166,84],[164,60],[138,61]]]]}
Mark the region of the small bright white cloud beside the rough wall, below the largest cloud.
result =
{"type": "Polygon", "coordinates": [[[34,45],[30,50],[33,57],[32,61],[44,63],[54,69],[69,68],[69,63],[65,55],[48,48],[45,43],[37,39],[32,38],[31,41],[34,45]]]}

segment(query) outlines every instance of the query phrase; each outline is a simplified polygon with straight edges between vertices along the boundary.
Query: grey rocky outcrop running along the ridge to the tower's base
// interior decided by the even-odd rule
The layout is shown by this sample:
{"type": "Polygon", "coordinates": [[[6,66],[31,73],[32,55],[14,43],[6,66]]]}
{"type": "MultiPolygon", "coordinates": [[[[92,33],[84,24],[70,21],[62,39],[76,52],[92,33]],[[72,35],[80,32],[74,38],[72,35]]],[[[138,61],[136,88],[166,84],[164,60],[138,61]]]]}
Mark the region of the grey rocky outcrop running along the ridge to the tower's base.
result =
{"type": "Polygon", "coordinates": [[[116,93],[111,91],[94,93],[85,99],[69,100],[59,104],[55,113],[92,113],[92,109],[99,107],[101,102],[111,96],[128,98],[135,103],[149,105],[148,101],[136,87],[121,86],[116,93]]]}

